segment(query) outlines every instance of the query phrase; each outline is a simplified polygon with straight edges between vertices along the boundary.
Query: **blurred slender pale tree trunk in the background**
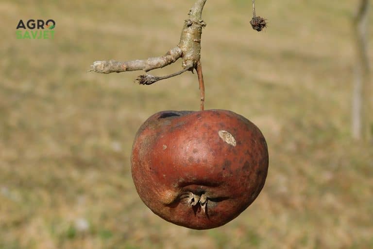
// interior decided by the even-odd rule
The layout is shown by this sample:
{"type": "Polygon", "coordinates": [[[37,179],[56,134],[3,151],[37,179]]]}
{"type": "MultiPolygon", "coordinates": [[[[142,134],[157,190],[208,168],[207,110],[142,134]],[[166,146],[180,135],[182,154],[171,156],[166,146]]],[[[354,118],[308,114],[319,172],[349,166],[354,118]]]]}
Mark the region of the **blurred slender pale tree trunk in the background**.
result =
{"type": "Polygon", "coordinates": [[[356,46],[354,75],[352,136],[355,140],[371,140],[373,129],[372,86],[369,75],[368,10],[370,0],[360,0],[353,20],[356,46]]]}

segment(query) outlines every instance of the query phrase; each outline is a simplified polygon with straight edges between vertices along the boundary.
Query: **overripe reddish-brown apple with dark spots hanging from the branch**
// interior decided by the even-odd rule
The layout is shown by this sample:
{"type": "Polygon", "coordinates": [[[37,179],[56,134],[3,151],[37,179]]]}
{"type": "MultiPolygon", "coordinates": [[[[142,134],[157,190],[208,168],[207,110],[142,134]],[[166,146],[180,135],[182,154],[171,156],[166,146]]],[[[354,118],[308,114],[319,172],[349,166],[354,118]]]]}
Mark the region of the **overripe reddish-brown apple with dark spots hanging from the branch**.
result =
{"type": "Polygon", "coordinates": [[[153,213],[203,230],[236,218],[259,195],[268,149],[260,130],[232,111],[161,111],[139,128],[131,165],[138,195],[153,213]],[[191,193],[207,197],[205,206],[191,206],[191,193]]]}

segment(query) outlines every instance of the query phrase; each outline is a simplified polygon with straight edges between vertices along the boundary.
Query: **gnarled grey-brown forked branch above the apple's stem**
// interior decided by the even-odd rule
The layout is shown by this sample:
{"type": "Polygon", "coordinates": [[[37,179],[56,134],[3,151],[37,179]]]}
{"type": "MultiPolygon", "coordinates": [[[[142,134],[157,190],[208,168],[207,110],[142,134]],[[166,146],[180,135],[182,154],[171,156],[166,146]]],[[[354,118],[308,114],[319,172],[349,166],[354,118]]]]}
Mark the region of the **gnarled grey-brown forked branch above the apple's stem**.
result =
{"type": "Polygon", "coordinates": [[[171,49],[163,56],[148,58],[144,60],[119,61],[95,61],[90,71],[98,73],[112,73],[124,71],[151,71],[168,66],[179,58],[183,59],[183,70],[166,76],[153,76],[150,74],[140,75],[137,81],[142,85],[151,85],[156,81],[179,75],[185,71],[193,71],[201,58],[201,35],[202,28],[206,26],[202,20],[202,11],[206,0],[197,0],[189,10],[189,18],[185,20],[177,47],[171,49]]]}

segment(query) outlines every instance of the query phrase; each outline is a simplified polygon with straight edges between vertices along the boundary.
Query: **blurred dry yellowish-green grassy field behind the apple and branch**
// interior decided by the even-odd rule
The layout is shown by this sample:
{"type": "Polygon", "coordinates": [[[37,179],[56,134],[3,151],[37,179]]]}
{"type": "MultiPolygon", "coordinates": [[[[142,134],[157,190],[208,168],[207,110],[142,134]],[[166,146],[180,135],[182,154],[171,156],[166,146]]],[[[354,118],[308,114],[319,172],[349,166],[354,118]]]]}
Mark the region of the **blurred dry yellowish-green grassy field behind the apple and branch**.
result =
{"type": "Polygon", "coordinates": [[[141,202],[130,153],[153,113],[199,109],[197,75],[139,86],[143,72],[85,71],[163,55],[194,1],[2,0],[0,248],[373,248],[373,147],[351,132],[359,1],[257,0],[261,33],[250,0],[207,1],[206,109],[254,122],[270,169],[245,212],[193,231],[141,202]],[[31,18],[54,19],[54,39],[16,39],[31,18]]]}

